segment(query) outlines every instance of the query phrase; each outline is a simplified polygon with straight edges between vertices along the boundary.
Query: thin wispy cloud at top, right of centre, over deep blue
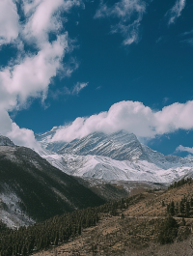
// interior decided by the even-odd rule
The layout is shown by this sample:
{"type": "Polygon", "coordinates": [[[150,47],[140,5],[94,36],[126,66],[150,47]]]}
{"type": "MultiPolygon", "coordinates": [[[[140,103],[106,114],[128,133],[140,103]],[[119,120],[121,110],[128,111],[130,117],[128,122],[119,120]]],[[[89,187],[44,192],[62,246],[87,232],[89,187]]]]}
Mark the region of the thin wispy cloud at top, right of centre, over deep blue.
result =
{"type": "Polygon", "coordinates": [[[111,27],[111,32],[121,33],[124,37],[124,45],[129,45],[139,42],[139,27],[145,12],[146,3],[142,0],[121,0],[112,7],[101,2],[95,18],[119,18],[120,22],[111,27]]]}

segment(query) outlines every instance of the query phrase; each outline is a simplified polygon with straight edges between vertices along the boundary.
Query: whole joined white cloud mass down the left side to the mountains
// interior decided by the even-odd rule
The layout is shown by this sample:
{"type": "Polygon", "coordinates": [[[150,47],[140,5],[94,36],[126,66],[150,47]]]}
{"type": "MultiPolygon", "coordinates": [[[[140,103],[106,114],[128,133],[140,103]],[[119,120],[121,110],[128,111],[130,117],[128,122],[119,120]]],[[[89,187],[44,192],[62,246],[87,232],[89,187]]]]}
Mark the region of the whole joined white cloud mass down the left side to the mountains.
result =
{"type": "MultiPolygon", "coordinates": [[[[62,15],[81,0],[23,0],[24,20],[19,24],[14,0],[0,1],[0,43],[18,44],[18,58],[0,69],[0,133],[17,145],[39,149],[34,132],[19,128],[8,112],[25,106],[29,98],[46,98],[52,77],[65,71],[62,60],[69,51],[68,33],[61,34],[62,15]],[[49,33],[56,39],[48,39],[49,33]],[[23,45],[33,45],[35,54],[25,53],[23,45]]],[[[70,71],[71,72],[71,71],[70,71]]]]}

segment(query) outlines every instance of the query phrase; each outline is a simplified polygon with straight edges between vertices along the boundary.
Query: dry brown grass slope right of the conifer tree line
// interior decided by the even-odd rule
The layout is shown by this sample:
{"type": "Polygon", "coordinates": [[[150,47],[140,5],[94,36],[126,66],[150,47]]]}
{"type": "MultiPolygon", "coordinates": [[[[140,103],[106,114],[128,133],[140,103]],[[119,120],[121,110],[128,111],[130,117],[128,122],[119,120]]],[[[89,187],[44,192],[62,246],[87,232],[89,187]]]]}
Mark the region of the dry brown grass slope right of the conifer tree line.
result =
{"type": "Polygon", "coordinates": [[[34,253],[34,256],[192,256],[193,239],[192,235],[187,237],[187,234],[191,231],[193,219],[185,218],[184,227],[181,218],[177,218],[180,225],[177,242],[167,245],[156,242],[166,213],[166,206],[162,207],[162,201],[167,205],[172,200],[180,201],[184,195],[187,198],[193,195],[193,185],[183,185],[167,191],[144,192],[137,203],[120,211],[119,216],[101,215],[101,220],[95,227],[84,230],[73,241],[34,253]]]}

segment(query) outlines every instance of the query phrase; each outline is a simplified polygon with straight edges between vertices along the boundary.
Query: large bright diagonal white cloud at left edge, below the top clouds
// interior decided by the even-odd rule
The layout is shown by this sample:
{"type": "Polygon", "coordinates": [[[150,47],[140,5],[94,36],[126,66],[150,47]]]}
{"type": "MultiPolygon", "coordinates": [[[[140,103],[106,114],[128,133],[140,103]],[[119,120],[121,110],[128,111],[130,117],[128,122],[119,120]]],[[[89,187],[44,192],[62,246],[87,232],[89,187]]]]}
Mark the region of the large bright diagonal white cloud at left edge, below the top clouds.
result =
{"type": "Polygon", "coordinates": [[[59,36],[53,43],[44,43],[37,55],[26,56],[20,64],[0,71],[1,90],[10,98],[2,98],[1,103],[12,110],[18,103],[24,104],[29,97],[46,93],[50,78],[60,69],[67,48],[67,35],[59,36]]]}

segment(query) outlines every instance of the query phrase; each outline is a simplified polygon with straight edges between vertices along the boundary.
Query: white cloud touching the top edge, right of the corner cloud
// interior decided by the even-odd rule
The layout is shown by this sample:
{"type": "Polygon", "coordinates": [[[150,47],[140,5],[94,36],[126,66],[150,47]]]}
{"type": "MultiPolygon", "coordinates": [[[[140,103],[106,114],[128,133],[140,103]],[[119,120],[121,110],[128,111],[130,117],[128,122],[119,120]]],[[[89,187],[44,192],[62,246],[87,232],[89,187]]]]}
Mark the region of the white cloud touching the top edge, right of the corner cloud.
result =
{"type": "Polygon", "coordinates": [[[58,32],[62,27],[61,12],[69,12],[73,6],[80,6],[80,0],[35,0],[23,1],[23,9],[28,16],[23,36],[28,41],[47,41],[48,32],[58,32]]]}

